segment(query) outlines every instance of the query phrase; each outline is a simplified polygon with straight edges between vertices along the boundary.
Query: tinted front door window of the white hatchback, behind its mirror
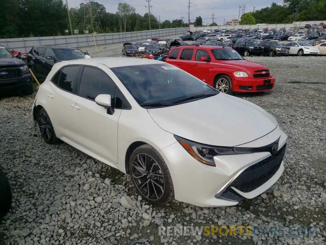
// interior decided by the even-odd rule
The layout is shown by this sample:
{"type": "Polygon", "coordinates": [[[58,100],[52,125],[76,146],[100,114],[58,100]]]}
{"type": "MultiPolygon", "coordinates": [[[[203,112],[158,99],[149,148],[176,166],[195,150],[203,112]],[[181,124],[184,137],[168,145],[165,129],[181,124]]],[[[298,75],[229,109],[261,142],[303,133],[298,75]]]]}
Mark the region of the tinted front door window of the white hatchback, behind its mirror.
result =
{"type": "Polygon", "coordinates": [[[110,94],[112,107],[120,109],[130,108],[126,98],[108,74],[93,67],[86,66],[84,68],[78,94],[93,101],[99,94],[110,94]]]}

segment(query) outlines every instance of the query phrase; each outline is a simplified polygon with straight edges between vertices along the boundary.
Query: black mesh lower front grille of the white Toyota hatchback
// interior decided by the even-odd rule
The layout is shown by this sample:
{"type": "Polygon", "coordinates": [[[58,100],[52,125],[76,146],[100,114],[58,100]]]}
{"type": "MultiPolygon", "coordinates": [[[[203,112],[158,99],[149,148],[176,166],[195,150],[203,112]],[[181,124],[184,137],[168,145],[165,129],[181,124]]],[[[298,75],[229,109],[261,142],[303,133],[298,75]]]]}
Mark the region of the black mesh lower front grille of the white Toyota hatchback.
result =
{"type": "Polygon", "coordinates": [[[275,155],[244,170],[230,186],[242,192],[250,192],[265,184],[280,168],[285,149],[286,144],[275,155]]]}

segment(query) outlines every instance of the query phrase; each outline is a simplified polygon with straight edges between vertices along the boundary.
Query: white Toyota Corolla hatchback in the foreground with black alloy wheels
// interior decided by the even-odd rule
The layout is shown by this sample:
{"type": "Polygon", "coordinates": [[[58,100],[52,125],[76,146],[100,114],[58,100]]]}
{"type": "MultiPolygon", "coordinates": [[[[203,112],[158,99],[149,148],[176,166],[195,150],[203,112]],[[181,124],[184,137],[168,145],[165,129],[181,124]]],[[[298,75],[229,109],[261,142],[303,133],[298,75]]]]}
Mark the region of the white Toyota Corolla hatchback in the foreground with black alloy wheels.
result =
{"type": "Polygon", "coordinates": [[[274,116],[157,60],[59,62],[32,114],[46,143],[60,139],[129,173],[153,204],[235,205],[284,170],[287,136],[274,116]]]}

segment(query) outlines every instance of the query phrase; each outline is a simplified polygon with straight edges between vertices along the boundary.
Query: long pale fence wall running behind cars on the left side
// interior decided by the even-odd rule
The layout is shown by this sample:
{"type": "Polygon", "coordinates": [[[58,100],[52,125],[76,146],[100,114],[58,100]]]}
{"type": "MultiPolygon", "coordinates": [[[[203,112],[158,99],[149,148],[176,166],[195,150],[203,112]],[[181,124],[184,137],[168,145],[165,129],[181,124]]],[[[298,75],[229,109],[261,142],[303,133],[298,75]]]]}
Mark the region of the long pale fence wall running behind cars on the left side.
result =
{"type": "MultiPolygon", "coordinates": [[[[95,40],[97,45],[104,45],[126,41],[140,41],[154,37],[179,36],[188,30],[189,27],[158,29],[150,31],[103,33],[97,34],[95,40]]],[[[7,46],[9,49],[15,49],[22,53],[29,52],[33,46],[37,45],[62,45],[76,48],[95,45],[94,37],[91,34],[0,39],[0,44],[7,46]]]]}

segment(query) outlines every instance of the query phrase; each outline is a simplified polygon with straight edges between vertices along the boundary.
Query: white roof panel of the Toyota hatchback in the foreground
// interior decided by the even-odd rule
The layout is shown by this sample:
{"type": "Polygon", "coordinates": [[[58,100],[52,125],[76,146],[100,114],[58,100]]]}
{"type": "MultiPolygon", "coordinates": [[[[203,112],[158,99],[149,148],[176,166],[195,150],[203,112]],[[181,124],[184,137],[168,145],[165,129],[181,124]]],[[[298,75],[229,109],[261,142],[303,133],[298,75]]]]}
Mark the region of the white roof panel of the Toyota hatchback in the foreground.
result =
{"type": "Polygon", "coordinates": [[[88,58],[88,59],[75,59],[75,60],[65,60],[58,62],[61,66],[65,65],[90,65],[96,66],[98,64],[106,65],[109,68],[121,67],[121,66],[134,66],[134,65],[150,65],[159,64],[162,61],[154,59],[139,59],[131,57],[99,57],[99,58],[88,58]]]}

